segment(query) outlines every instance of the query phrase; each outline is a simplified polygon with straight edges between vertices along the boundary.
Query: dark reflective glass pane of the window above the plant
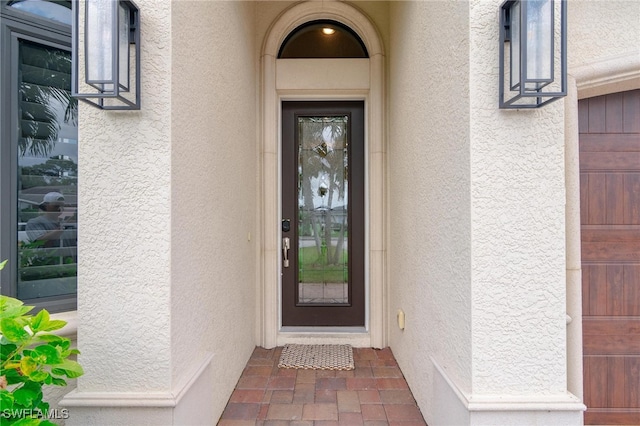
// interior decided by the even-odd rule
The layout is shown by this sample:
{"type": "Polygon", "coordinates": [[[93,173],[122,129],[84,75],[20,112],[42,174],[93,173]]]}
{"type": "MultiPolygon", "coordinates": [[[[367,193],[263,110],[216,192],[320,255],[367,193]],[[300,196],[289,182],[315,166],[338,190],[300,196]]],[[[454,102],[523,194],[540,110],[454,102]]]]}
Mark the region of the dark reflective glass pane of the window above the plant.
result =
{"type": "Polygon", "coordinates": [[[19,43],[17,296],[33,300],[76,293],[78,109],[71,54],[19,43]]]}

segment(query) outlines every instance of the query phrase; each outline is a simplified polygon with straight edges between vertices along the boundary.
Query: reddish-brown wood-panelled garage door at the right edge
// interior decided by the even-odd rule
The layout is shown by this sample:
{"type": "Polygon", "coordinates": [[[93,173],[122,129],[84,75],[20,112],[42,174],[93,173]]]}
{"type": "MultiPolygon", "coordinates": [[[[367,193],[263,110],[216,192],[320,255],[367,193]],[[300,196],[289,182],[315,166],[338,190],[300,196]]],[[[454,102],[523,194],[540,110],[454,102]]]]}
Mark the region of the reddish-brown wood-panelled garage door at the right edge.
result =
{"type": "Polygon", "coordinates": [[[585,424],[640,424],[640,90],[581,100],[585,424]]]}

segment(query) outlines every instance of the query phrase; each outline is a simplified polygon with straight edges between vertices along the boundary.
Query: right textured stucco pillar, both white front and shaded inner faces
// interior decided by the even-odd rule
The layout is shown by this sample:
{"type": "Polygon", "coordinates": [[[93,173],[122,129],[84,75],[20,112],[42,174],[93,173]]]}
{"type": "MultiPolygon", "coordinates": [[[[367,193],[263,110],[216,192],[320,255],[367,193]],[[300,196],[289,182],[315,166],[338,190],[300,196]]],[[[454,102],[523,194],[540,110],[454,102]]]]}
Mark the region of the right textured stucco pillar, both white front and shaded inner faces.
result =
{"type": "Polygon", "coordinates": [[[427,422],[424,356],[463,401],[565,399],[563,104],[497,108],[497,6],[390,8],[391,346],[427,422]]]}

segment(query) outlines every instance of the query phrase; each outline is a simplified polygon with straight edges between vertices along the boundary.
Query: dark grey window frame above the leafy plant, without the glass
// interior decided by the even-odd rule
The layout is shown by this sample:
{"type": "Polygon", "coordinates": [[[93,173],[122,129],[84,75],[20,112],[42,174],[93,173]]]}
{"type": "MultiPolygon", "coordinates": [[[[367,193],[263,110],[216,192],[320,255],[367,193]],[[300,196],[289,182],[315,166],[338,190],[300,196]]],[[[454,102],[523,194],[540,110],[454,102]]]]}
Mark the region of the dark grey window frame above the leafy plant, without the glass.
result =
{"type": "MultiPolygon", "coordinates": [[[[71,13],[71,11],[69,12],[71,13]]],[[[0,271],[3,295],[16,297],[18,282],[18,45],[19,39],[71,52],[71,26],[17,10],[0,1],[0,261],[8,260],[0,271]],[[1,143],[1,141],[10,141],[1,143]],[[7,285],[8,283],[8,285],[7,285]]],[[[49,312],[77,309],[77,293],[23,300],[49,312]]]]}

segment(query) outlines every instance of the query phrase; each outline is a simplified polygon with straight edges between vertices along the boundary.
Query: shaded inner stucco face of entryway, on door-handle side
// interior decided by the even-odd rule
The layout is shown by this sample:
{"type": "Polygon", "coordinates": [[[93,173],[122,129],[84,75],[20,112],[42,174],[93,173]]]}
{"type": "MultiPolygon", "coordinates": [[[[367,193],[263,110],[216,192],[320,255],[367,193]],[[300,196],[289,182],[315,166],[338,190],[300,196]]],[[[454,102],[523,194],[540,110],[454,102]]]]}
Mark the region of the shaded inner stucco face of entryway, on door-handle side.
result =
{"type": "Polygon", "coordinates": [[[213,353],[218,415],[255,346],[254,21],[250,2],[172,5],[172,373],[213,353]]]}

